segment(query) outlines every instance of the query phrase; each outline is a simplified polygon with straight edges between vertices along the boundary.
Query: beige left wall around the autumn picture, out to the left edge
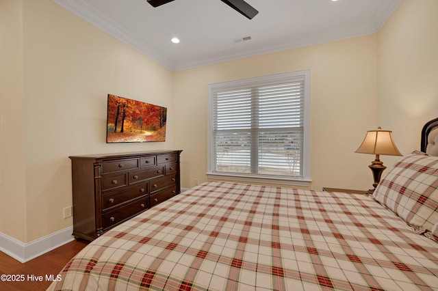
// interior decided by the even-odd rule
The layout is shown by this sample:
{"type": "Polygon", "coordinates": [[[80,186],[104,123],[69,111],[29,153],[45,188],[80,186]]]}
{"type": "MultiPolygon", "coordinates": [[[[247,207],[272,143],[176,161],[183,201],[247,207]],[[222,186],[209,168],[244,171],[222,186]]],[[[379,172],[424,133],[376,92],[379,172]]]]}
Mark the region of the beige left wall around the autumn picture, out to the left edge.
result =
{"type": "Polygon", "coordinates": [[[8,143],[0,232],[26,243],[73,223],[62,217],[72,204],[68,156],[173,148],[173,72],[51,0],[6,2],[14,3],[10,38],[21,44],[23,36],[25,45],[20,53],[11,44],[5,57],[18,72],[1,98],[8,143]],[[168,107],[166,142],[105,143],[107,94],[168,107]]]}

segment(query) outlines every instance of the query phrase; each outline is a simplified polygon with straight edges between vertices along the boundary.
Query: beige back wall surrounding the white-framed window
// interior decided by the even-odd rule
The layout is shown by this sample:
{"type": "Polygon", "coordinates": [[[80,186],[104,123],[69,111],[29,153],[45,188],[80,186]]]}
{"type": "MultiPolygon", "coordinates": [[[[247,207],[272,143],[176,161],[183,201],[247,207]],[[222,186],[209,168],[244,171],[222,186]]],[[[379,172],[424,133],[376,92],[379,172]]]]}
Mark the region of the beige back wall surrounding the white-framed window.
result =
{"type": "Polygon", "coordinates": [[[207,180],[209,83],[311,70],[311,184],[368,189],[372,156],[355,154],[376,127],[376,35],[298,48],[175,73],[182,184],[207,180]]]}

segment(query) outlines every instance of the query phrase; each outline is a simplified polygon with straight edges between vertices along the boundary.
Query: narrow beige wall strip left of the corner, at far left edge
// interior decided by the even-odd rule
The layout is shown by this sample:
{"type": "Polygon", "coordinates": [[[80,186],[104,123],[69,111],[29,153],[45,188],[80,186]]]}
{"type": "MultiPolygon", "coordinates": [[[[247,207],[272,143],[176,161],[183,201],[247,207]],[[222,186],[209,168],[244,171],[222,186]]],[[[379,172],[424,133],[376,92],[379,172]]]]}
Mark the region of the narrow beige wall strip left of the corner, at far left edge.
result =
{"type": "Polygon", "coordinates": [[[0,1],[0,232],[25,241],[25,109],[21,1],[0,1]]]}

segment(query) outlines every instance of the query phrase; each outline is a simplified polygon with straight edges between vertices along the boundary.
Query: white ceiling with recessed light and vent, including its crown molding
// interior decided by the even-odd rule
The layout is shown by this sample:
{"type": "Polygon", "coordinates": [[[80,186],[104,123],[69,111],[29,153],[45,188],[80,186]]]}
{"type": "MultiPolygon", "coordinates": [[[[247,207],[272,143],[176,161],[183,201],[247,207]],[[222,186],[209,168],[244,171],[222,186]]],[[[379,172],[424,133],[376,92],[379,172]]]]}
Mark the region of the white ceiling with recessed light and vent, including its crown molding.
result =
{"type": "Polygon", "coordinates": [[[246,0],[259,10],[252,20],[220,0],[157,8],[146,0],[53,1],[170,70],[183,70],[375,33],[402,0],[246,0]],[[175,36],[179,44],[170,42],[175,36]]]}

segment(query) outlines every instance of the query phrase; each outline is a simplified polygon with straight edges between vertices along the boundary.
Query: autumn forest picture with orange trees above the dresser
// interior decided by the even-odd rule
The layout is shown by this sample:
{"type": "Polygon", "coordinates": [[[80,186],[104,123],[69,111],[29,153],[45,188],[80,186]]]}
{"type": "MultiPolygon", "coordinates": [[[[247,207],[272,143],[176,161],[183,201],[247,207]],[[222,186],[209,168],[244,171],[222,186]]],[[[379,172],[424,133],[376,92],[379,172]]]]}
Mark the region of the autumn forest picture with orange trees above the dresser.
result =
{"type": "Polygon", "coordinates": [[[107,143],[166,141],[167,108],[108,94],[107,143]]]}

